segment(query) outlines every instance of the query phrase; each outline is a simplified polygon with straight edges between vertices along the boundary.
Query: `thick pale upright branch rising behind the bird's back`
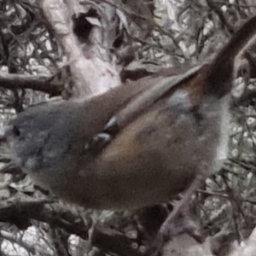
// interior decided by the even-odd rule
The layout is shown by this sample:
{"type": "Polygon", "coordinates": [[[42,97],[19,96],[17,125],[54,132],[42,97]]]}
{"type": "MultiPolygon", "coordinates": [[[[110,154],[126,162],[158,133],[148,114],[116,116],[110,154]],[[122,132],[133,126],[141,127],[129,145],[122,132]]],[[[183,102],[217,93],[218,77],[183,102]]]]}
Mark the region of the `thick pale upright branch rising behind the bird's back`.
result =
{"type": "MultiPolygon", "coordinates": [[[[68,8],[60,0],[38,1],[44,10],[49,26],[62,44],[68,57],[73,78],[73,96],[86,98],[100,94],[119,85],[119,74],[101,57],[100,50],[82,47],[73,33],[72,15],[77,14],[77,5],[68,8]]],[[[82,9],[82,6],[80,6],[82,9]]],[[[94,45],[96,47],[96,45],[94,45]]],[[[106,51],[106,49],[105,49],[106,51]]],[[[109,59],[108,56],[105,56],[109,59]]]]}

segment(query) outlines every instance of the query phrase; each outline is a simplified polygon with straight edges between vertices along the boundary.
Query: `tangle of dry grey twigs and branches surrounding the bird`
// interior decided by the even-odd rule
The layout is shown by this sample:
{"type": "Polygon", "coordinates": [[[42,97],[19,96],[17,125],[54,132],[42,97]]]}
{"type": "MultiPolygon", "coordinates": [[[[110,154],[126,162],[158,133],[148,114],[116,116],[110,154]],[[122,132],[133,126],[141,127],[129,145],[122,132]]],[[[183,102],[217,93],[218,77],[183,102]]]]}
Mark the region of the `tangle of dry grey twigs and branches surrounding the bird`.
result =
{"type": "MultiPolygon", "coordinates": [[[[1,126],[49,100],[96,95],[147,75],[212,59],[252,15],[252,0],[0,1],[1,126]]],[[[163,255],[255,255],[256,52],[231,106],[230,158],[193,198],[195,230],[163,255]]],[[[96,212],[33,186],[1,149],[0,255],[143,255],[171,204],[96,212]],[[90,237],[90,239],[89,239],[90,237]]],[[[192,205],[192,204],[191,204],[192,205]]]]}

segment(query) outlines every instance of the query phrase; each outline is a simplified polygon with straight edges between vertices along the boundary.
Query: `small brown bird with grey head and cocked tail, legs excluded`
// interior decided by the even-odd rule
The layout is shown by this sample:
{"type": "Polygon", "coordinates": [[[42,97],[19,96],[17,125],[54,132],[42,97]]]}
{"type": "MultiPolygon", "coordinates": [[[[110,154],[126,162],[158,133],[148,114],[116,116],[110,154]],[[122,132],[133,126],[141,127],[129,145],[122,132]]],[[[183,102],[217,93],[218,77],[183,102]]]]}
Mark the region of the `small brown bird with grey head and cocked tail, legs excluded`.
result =
{"type": "Polygon", "coordinates": [[[166,202],[218,169],[228,143],[236,57],[256,17],[212,63],[102,96],[28,108],[9,123],[12,160],[62,199],[96,209],[166,202]]]}

